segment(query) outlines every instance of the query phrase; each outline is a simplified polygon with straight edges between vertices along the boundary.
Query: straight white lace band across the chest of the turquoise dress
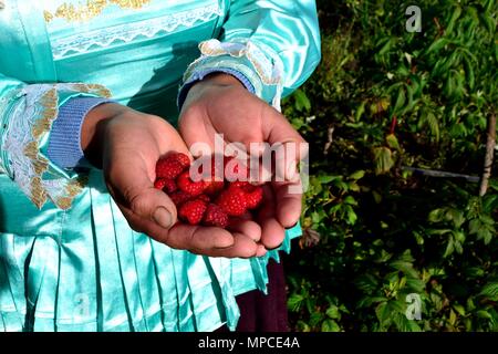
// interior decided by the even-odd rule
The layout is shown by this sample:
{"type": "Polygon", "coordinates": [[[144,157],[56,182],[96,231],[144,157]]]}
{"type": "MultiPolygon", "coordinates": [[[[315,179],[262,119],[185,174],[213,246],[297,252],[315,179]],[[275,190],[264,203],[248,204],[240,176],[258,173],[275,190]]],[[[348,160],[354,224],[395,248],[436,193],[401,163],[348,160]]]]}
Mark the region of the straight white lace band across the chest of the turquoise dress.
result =
{"type": "Polygon", "coordinates": [[[115,42],[129,43],[139,37],[154,38],[159,33],[172,33],[179,28],[191,28],[198,22],[207,22],[222,15],[219,4],[177,12],[165,17],[104,28],[86,33],[55,39],[52,42],[54,59],[73,53],[86,53],[93,46],[108,48],[115,42]]]}

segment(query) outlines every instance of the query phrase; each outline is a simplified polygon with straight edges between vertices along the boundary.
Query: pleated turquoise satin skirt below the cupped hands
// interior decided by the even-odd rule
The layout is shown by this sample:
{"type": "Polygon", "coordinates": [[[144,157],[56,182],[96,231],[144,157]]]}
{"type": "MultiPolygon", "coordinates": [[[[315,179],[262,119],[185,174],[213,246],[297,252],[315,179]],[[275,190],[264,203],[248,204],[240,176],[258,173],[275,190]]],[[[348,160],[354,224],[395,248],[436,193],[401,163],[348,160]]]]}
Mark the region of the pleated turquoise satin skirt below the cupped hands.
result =
{"type": "Polygon", "coordinates": [[[235,298],[266,291],[270,258],[196,256],[133,231],[97,170],[69,210],[38,210],[0,175],[0,331],[234,330],[235,298]]]}

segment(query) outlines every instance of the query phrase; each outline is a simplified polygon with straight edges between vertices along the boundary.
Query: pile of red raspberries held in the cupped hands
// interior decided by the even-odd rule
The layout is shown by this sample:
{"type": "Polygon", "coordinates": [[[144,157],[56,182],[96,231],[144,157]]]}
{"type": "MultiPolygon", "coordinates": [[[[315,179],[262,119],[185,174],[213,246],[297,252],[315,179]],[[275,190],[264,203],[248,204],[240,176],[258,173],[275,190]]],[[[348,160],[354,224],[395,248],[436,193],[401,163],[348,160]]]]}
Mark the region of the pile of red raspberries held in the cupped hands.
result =
{"type": "Polygon", "coordinates": [[[188,156],[169,154],[157,162],[154,186],[172,198],[181,221],[226,228],[230,217],[259,207],[262,188],[247,181],[247,167],[232,157],[212,157],[210,165],[209,177],[194,181],[188,156]]]}

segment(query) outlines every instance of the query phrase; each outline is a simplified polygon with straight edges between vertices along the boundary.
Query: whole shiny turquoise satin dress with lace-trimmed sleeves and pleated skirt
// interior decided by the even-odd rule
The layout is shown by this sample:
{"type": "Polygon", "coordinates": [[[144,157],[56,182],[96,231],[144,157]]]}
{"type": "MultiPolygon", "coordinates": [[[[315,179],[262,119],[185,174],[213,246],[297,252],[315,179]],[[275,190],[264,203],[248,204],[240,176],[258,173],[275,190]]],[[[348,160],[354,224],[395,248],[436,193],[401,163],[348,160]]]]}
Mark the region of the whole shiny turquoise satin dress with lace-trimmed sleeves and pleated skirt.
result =
{"type": "Polygon", "coordinates": [[[77,96],[175,123],[181,82],[214,69],[278,107],[320,60],[314,1],[3,0],[0,33],[0,330],[235,329],[235,296],[264,291],[278,253],[208,258],[133,231],[100,170],[46,157],[50,131],[77,96]]]}

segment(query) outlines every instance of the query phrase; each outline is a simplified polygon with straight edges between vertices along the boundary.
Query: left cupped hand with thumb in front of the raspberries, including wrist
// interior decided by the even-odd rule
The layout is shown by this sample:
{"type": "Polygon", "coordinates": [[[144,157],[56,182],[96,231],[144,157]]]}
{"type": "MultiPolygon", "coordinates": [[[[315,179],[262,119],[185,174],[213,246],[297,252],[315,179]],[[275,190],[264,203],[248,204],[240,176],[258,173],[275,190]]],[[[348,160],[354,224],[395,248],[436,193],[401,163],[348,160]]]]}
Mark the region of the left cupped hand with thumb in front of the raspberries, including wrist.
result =
{"type": "Polygon", "coordinates": [[[154,188],[155,166],[169,152],[189,155],[165,119],[107,103],[93,108],[83,123],[82,148],[104,171],[107,189],[129,226],[175,249],[210,257],[262,256],[261,228],[253,221],[235,229],[176,223],[176,207],[154,188]]]}

